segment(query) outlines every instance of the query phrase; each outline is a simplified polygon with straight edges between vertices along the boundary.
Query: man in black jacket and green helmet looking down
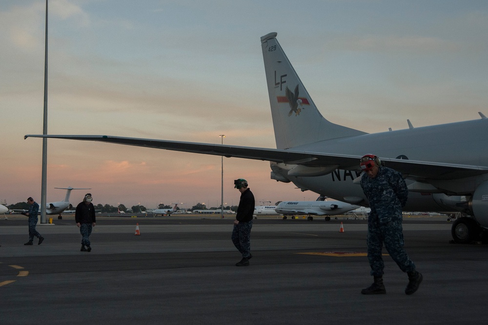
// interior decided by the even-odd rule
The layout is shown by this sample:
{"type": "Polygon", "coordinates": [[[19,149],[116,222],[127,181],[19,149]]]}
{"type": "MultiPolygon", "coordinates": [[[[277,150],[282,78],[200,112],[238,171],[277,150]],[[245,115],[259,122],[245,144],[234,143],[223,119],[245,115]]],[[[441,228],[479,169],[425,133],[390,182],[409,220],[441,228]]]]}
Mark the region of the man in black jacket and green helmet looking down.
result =
{"type": "Polygon", "coordinates": [[[234,220],[234,229],[232,230],[232,243],[243,256],[242,260],[236,263],[238,267],[248,266],[252,257],[250,251],[254,194],[247,186],[247,181],[243,178],[234,180],[234,188],[241,192],[241,200],[239,207],[237,207],[236,220],[234,220]]]}

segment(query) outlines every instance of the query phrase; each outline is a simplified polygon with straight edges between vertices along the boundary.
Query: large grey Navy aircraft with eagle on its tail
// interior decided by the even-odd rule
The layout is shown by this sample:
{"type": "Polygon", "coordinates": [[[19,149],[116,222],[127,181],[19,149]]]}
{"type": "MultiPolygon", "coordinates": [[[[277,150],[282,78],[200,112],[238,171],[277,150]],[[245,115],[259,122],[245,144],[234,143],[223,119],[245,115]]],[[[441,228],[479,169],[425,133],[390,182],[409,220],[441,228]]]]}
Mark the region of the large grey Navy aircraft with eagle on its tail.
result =
{"type": "Polygon", "coordinates": [[[267,160],[271,179],[293,182],[338,201],[368,206],[358,185],[359,159],[377,155],[403,174],[405,211],[460,211],[451,229],[469,243],[488,229],[488,119],[367,134],[325,119],[277,40],[261,38],[276,148],[142,139],[110,135],[25,135],[267,160]]]}

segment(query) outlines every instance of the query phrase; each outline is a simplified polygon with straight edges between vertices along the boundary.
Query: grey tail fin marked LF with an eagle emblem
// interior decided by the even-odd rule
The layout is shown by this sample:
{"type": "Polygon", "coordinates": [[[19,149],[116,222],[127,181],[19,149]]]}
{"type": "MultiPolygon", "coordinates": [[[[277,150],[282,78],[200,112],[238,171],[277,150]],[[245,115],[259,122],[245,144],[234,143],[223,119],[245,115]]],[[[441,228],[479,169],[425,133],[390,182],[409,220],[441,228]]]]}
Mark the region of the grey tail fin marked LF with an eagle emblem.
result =
{"type": "Polygon", "coordinates": [[[276,36],[270,33],[261,38],[276,148],[366,134],[329,122],[320,114],[276,36]]]}

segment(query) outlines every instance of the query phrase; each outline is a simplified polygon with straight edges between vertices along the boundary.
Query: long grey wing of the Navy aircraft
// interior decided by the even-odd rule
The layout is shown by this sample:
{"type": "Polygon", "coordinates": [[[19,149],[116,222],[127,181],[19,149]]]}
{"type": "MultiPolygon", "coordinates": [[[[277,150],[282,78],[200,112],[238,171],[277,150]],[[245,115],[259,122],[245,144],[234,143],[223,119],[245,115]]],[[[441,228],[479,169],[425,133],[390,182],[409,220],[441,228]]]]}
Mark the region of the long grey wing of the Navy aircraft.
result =
{"type": "MultiPolygon", "coordinates": [[[[276,163],[303,165],[306,167],[319,167],[327,172],[332,172],[336,169],[359,171],[359,159],[362,157],[362,155],[300,151],[297,149],[298,147],[284,150],[111,135],[27,134],[24,136],[24,139],[28,137],[98,141],[187,153],[203,153],[225,157],[274,161],[276,163]]],[[[323,148],[317,147],[317,150],[321,149],[323,148]]],[[[488,167],[486,166],[448,164],[386,157],[380,157],[380,159],[385,162],[387,167],[393,168],[404,174],[404,177],[411,179],[456,179],[488,173],[488,167]]],[[[327,172],[324,172],[323,174],[327,172]]]]}

